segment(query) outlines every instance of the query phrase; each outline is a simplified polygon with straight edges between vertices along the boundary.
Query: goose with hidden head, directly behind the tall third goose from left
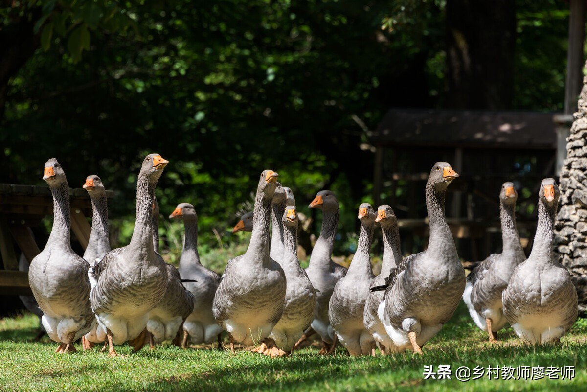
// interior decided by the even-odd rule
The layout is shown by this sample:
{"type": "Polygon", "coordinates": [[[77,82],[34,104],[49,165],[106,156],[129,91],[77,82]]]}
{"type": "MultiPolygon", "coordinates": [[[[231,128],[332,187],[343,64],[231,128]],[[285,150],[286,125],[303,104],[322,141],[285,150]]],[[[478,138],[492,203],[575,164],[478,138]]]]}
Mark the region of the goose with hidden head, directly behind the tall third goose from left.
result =
{"type": "MultiPolygon", "coordinates": [[[[157,198],[153,200],[151,222],[153,225],[153,248],[159,253],[159,204],[157,198]]],[[[149,347],[153,349],[156,343],[164,340],[173,340],[180,346],[180,331],[185,319],[194,310],[194,295],[181,283],[180,272],[173,265],[166,263],[167,289],[157,306],[149,312],[147,331],[149,332],[149,347]]]]}

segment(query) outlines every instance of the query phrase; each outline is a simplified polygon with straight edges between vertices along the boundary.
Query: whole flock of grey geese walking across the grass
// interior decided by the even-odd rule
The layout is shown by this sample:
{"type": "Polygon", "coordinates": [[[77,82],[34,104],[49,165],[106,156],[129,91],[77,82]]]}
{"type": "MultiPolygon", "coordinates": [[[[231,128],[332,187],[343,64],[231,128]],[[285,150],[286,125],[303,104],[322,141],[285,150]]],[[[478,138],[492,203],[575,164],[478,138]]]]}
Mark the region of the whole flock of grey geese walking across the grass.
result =
{"type": "Polygon", "coordinates": [[[128,342],[133,352],[172,340],[180,347],[218,342],[228,332],[235,344],[254,352],[285,356],[314,333],[321,353],[343,344],[352,356],[402,353],[421,347],[450,319],[463,298],[475,324],[490,342],[507,322],[525,343],[558,342],[577,317],[577,294],[569,272],[552,256],[553,225],[559,190],[542,181],[538,228],[528,259],[515,225],[517,193],[512,183],[500,192],[503,251],[477,263],[465,276],[444,215],[448,185],[458,174],[437,163],[426,183],[430,241],[419,254],[402,258],[397,218],[389,205],[377,211],[359,206],[360,234],[348,269],[332,261],[339,204],[330,191],[309,205],[322,210],[321,233],[309,266],[296,252],[298,214],[291,189],[278,174],[259,177],[254,211],[233,232],[251,231],[247,251],[228,261],[219,276],[200,263],[198,218],[194,206],[180,203],[170,215],[184,222],[179,267],[158,253],[155,188],[168,161],[144,158],[137,180],[136,222],[130,243],[110,249],[104,185],[90,175],[83,187],[92,200],[92,234],[83,258],[70,245],[68,182],[55,158],[45,163],[45,180],[54,202],[53,229],[43,251],[32,260],[29,283],[42,325],[59,343],[57,353],[95,344],[119,354],[114,344],[128,342]],[[270,228],[271,222],[271,230],[270,228]],[[382,230],[383,261],[374,276],[370,248],[376,223],[382,230]],[[271,233],[270,233],[271,232],[271,233]]]}

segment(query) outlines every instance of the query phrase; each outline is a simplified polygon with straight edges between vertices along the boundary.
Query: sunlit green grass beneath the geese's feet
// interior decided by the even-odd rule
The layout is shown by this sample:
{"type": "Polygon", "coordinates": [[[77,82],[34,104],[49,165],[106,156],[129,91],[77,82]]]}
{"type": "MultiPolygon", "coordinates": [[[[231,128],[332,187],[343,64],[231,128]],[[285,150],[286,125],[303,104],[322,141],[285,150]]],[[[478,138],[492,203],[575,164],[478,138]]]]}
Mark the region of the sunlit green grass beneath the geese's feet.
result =
{"type": "MultiPolygon", "coordinates": [[[[489,344],[473,326],[463,304],[443,330],[424,347],[423,356],[352,358],[338,349],[318,356],[308,347],[289,358],[270,359],[248,352],[231,356],[210,349],[149,348],[109,359],[98,352],[54,354],[56,343],[32,342],[37,319],[31,315],[0,320],[1,391],[583,391],[587,384],[587,320],[579,320],[560,346],[522,346],[511,329],[489,344]],[[425,364],[459,366],[575,366],[575,379],[423,380],[425,364]]],[[[76,346],[81,350],[79,344],[76,346]]]]}

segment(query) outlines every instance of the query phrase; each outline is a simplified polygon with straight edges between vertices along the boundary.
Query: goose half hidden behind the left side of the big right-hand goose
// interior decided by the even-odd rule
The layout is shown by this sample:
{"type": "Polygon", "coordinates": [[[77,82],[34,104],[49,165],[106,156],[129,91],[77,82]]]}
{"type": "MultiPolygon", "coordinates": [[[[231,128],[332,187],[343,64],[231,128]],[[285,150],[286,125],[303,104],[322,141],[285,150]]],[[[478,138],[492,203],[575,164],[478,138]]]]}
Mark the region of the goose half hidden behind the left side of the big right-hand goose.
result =
{"type": "MultiPolygon", "coordinates": [[[[371,286],[380,286],[385,283],[385,278],[397,268],[402,262],[402,253],[400,251],[400,232],[397,227],[397,218],[392,207],[387,204],[380,205],[377,208],[376,222],[381,225],[383,236],[383,257],[381,272],[375,276],[371,286]]],[[[365,302],[365,313],[363,313],[363,322],[365,329],[372,334],[373,339],[379,343],[379,349],[383,355],[396,351],[393,340],[387,334],[385,327],[379,320],[379,305],[383,301],[383,291],[369,292],[365,302]]],[[[375,352],[371,353],[375,355],[375,352]]]]}

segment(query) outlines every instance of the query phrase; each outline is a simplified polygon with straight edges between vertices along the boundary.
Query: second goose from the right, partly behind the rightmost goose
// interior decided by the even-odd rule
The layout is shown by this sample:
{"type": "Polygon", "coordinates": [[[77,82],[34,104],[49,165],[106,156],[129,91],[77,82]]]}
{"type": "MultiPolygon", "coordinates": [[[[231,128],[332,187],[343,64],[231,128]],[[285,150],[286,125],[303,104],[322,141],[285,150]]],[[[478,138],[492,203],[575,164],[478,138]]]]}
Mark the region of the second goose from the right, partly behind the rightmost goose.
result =
{"type": "Polygon", "coordinates": [[[501,295],[510,281],[514,268],[526,259],[515,225],[515,202],[518,194],[514,184],[506,182],[500,191],[501,239],[503,251],[480,262],[467,275],[463,300],[477,326],[495,342],[497,331],[507,320],[502,311],[501,295]]]}

